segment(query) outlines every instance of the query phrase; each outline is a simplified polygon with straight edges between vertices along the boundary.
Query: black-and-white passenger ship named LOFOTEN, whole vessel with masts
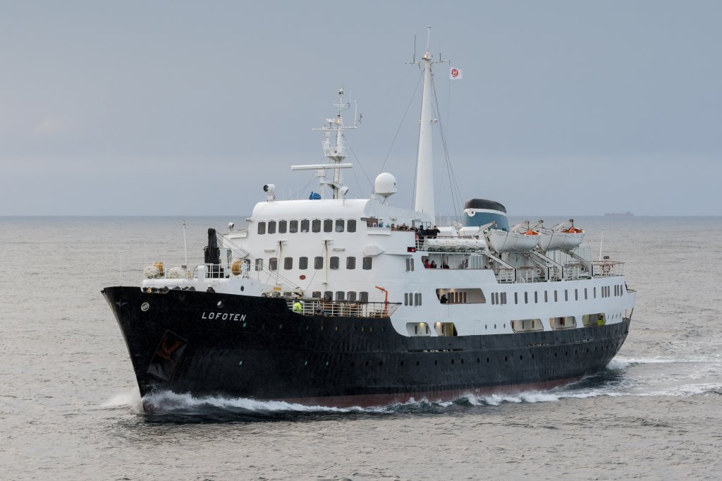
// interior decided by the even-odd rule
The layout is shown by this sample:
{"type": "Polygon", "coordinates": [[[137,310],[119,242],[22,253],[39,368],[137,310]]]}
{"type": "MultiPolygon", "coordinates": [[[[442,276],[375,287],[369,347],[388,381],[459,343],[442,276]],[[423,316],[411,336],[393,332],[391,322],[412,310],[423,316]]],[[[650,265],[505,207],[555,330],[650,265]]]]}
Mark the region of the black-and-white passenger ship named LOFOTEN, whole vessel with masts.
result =
{"type": "MultiPolygon", "coordinates": [[[[102,294],[128,349],[144,409],[188,393],[309,406],[552,389],[605,368],[625,342],[635,291],[624,262],[594,261],[573,220],[509,225],[499,202],[466,201],[437,227],[432,68],[423,77],[413,206],[393,203],[383,172],[349,195],[349,108],[318,131],[318,192],[279,200],[276,186],[243,226],[208,230],[204,263],[144,268],[139,285],[102,294]]],[[[406,169],[408,170],[408,169],[406,169]]],[[[263,194],[261,194],[261,190],[263,194]]]]}

